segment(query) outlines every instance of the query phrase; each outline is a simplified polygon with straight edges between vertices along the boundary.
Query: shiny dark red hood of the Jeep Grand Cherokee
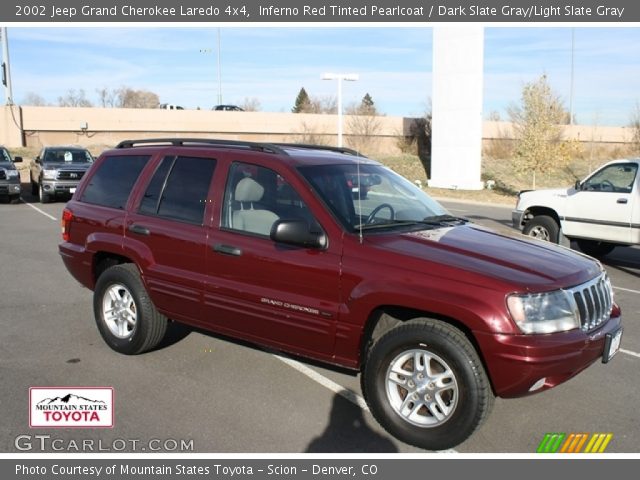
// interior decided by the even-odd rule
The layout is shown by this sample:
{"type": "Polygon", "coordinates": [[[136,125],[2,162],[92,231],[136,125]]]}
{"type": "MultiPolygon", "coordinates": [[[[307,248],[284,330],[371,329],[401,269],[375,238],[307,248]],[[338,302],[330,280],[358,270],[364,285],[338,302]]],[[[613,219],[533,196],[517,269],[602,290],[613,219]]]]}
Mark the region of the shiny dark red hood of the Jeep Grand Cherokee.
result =
{"type": "Polygon", "coordinates": [[[376,248],[409,257],[408,266],[466,283],[497,281],[514,291],[566,288],[601,272],[599,262],[568,248],[473,224],[368,240],[376,248]],[[468,278],[461,271],[469,272],[468,278]]]}

